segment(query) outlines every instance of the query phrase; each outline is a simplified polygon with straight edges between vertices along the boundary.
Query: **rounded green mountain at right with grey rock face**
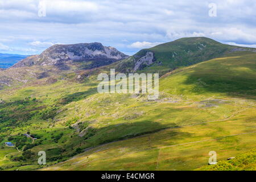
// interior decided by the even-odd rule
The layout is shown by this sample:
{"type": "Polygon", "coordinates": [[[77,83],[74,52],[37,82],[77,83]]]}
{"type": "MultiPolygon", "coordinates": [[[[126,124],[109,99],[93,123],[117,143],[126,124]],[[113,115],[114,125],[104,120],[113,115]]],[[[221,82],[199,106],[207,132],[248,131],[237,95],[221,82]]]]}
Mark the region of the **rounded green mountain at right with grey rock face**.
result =
{"type": "Polygon", "coordinates": [[[198,37],[182,38],[174,42],[142,49],[121,61],[120,72],[159,72],[160,75],[176,68],[207,61],[234,51],[256,51],[254,48],[230,46],[215,40],[198,37]]]}

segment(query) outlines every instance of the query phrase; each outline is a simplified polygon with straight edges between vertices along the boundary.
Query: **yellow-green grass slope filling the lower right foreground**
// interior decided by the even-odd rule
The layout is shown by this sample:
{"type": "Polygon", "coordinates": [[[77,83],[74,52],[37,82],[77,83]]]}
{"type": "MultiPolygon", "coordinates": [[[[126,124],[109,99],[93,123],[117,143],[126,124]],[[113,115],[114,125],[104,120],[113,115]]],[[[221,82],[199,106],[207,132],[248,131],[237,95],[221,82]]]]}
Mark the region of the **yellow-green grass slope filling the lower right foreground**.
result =
{"type": "MultiPolygon", "coordinates": [[[[250,115],[251,111],[255,108],[243,114],[250,115]]],[[[106,144],[44,170],[196,169],[208,163],[209,151],[216,151],[221,160],[255,147],[256,133],[250,133],[256,131],[255,123],[247,123],[246,118],[167,129],[106,144]]]]}

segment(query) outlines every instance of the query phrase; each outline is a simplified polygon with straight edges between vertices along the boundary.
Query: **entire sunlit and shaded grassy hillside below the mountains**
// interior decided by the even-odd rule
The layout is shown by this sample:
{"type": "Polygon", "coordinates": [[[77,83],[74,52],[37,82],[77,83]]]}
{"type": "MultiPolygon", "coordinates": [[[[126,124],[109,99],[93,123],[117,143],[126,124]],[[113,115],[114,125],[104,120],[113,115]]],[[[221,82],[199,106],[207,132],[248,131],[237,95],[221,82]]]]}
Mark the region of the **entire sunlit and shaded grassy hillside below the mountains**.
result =
{"type": "Polygon", "coordinates": [[[37,153],[43,150],[47,165],[56,164],[45,169],[192,170],[207,164],[209,151],[221,160],[251,150],[255,57],[236,52],[176,69],[160,79],[156,101],[140,94],[98,94],[97,74],[117,63],[51,72],[3,89],[0,167],[40,168],[37,153]],[[7,141],[17,149],[5,157],[7,141]]]}

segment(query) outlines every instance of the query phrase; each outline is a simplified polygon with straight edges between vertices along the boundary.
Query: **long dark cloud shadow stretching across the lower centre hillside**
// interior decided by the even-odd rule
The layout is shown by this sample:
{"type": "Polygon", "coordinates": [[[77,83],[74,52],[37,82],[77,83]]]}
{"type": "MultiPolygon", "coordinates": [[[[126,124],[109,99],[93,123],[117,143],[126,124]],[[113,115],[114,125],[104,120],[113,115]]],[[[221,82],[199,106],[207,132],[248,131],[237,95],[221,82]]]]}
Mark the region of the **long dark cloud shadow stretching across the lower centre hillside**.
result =
{"type": "MultiPolygon", "coordinates": [[[[108,125],[101,127],[100,129],[87,130],[85,135],[81,137],[82,148],[96,147],[106,143],[117,142],[120,140],[131,139],[135,137],[141,137],[147,134],[158,133],[164,129],[175,128],[177,125],[175,123],[170,123],[168,125],[162,125],[158,122],[152,121],[142,121],[134,123],[120,123],[118,125],[108,125]]],[[[191,135],[189,133],[184,133],[179,131],[179,129],[165,131],[164,135],[156,136],[159,137],[159,144],[171,144],[170,140],[167,142],[166,138],[177,139],[177,138],[187,138],[191,135]],[[162,140],[163,139],[163,140],[162,140]]],[[[138,142],[143,142],[138,138],[138,142]]],[[[148,138],[150,143],[150,138],[148,138]]]]}

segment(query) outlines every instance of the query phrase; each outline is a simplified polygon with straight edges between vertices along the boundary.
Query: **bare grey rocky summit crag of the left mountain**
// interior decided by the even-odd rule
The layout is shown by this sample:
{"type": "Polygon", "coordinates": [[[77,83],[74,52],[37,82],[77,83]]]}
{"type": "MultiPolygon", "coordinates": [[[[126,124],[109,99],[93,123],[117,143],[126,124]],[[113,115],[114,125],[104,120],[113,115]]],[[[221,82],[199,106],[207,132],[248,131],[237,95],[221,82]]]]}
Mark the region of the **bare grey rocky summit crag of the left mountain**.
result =
{"type": "Polygon", "coordinates": [[[33,65],[63,65],[70,63],[87,63],[85,68],[108,65],[128,57],[113,47],[101,43],[81,43],[71,45],[54,45],[40,55],[27,57],[11,68],[31,67],[33,65]]]}

